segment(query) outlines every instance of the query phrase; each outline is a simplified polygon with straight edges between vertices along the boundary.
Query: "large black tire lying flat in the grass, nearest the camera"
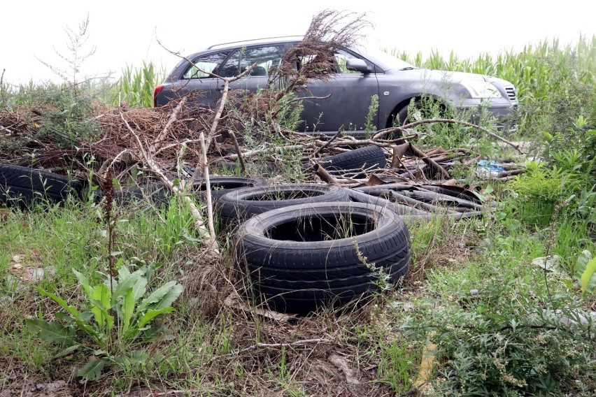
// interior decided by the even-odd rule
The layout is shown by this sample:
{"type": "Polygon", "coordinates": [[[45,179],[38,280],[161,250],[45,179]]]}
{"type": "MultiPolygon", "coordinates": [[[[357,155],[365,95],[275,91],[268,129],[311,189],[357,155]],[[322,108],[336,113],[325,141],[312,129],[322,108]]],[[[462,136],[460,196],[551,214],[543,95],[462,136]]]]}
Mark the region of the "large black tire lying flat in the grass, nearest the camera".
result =
{"type": "Polygon", "coordinates": [[[257,298],[275,310],[309,312],[406,275],[410,237],[395,212],[365,203],[313,203],[264,212],[237,233],[237,262],[257,298]]]}

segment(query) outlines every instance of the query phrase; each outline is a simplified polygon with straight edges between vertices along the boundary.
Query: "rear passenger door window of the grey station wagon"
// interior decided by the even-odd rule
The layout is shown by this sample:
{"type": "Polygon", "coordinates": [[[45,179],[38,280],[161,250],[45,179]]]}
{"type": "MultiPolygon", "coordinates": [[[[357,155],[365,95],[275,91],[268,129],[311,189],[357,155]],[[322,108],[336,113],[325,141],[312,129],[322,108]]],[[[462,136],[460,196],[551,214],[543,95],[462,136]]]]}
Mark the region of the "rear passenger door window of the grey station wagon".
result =
{"type": "Polygon", "coordinates": [[[267,45],[263,47],[239,48],[229,57],[220,69],[220,76],[234,77],[256,64],[250,75],[267,76],[273,66],[281,63],[284,45],[267,45]]]}

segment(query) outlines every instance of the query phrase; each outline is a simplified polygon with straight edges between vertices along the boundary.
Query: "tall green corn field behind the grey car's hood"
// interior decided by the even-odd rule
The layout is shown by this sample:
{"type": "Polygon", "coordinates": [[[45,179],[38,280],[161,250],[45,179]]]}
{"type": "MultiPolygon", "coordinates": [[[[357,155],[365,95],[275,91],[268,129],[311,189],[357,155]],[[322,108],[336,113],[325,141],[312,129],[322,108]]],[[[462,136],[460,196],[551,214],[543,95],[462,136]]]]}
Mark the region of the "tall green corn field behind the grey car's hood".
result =
{"type": "Polygon", "coordinates": [[[397,48],[388,52],[418,67],[481,73],[512,82],[520,100],[523,134],[556,133],[578,117],[595,120],[596,36],[582,37],[576,45],[542,41],[496,57],[484,53],[460,59],[453,51],[448,57],[438,52],[424,57],[422,52],[410,55],[397,48]]]}

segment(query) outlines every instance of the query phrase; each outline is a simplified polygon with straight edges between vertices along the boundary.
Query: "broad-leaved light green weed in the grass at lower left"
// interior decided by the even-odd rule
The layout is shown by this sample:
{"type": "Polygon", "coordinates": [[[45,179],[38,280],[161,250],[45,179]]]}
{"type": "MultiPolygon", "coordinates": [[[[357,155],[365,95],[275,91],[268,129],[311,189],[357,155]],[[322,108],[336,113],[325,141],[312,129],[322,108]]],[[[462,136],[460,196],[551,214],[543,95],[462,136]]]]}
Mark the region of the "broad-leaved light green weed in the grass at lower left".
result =
{"type": "Polygon", "coordinates": [[[64,311],[56,314],[59,321],[25,320],[29,329],[38,333],[41,339],[64,347],[57,356],[79,348],[93,351],[92,359],[77,370],[77,376],[85,381],[97,380],[106,364],[118,363],[135,345],[155,339],[159,335],[159,326],[152,325],[152,321],[159,315],[173,312],[171,304],[183,290],[180,284],[171,281],[146,296],[154,269],[143,266],[130,273],[122,259],[119,263],[118,278],[108,277],[103,284],[94,286],[83,273],[73,269],[85,291],[85,309],[88,311],[81,312],[56,294],[36,287],[41,296],[52,299],[64,311]],[[75,331],[88,340],[77,342],[75,331]]]}

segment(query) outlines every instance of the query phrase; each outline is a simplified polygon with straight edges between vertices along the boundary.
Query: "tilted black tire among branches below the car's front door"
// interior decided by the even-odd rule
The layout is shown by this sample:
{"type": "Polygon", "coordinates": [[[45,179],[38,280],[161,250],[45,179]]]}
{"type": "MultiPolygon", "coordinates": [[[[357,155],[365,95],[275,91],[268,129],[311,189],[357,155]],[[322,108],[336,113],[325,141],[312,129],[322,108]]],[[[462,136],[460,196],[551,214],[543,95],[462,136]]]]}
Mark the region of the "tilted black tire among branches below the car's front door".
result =
{"type": "Polygon", "coordinates": [[[383,148],[377,145],[360,147],[350,152],[335,154],[318,159],[318,163],[330,173],[357,170],[360,168],[385,168],[387,158],[383,148]]]}

